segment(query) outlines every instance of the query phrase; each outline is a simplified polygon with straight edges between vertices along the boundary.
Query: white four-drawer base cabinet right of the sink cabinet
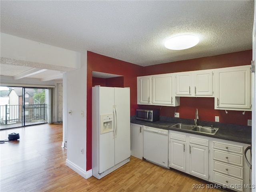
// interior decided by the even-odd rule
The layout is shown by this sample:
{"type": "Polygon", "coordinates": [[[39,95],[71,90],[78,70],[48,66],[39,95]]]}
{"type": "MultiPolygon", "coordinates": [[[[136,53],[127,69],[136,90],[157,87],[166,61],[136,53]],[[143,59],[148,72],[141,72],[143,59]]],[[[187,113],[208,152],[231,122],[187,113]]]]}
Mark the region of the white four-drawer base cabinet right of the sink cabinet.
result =
{"type": "MultiPolygon", "coordinates": [[[[213,140],[210,181],[235,191],[250,191],[250,165],[244,155],[244,149],[248,146],[238,142],[213,140]]],[[[247,157],[250,159],[250,156],[247,157]]]]}

